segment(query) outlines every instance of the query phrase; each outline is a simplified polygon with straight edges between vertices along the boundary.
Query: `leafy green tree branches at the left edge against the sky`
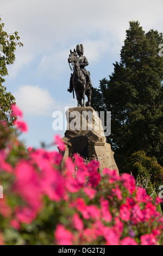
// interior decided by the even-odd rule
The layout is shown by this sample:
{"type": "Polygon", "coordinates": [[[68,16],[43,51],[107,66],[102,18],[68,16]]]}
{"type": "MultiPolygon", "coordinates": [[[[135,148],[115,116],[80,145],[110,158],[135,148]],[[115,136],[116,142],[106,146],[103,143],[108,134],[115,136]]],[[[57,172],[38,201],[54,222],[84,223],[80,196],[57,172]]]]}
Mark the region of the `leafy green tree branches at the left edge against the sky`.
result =
{"type": "Polygon", "coordinates": [[[23,46],[23,44],[19,41],[18,32],[8,34],[3,31],[3,27],[4,23],[1,22],[0,18],[0,118],[12,125],[14,118],[10,117],[9,114],[11,113],[11,105],[15,103],[15,97],[7,92],[3,83],[5,82],[4,76],[8,75],[7,65],[13,64],[15,61],[16,46],[23,46]]]}

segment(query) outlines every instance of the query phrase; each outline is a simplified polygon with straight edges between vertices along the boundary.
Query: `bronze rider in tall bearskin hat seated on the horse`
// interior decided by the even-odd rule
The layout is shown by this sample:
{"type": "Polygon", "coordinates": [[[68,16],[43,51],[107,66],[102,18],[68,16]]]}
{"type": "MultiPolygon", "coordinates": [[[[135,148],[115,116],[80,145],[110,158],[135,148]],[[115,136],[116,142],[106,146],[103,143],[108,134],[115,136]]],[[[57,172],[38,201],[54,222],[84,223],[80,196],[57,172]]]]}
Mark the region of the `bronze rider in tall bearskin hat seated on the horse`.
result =
{"type": "MultiPolygon", "coordinates": [[[[91,82],[91,78],[90,78],[90,72],[85,69],[85,66],[89,65],[89,63],[87,61],[87,58],[85,56],[83,56],[83,54],[84,54],[83,45],[78,44],[77,47],[76,47],[76,51],[77,51],[78,56],[79,56],[78,60],[79,60],[80,68],[82,69],[83,74],[85,75],[87,83],[89,83],[90,89],[93,90],[93,86],[92,86],[92,82],[91,82]]],[[[70,92],[70,93],[72,93],[72,89],[73,89],[72,77],[73,77],[73,74],[71,74],[70,88],[68,88],[68,92],[70,92]]]]}

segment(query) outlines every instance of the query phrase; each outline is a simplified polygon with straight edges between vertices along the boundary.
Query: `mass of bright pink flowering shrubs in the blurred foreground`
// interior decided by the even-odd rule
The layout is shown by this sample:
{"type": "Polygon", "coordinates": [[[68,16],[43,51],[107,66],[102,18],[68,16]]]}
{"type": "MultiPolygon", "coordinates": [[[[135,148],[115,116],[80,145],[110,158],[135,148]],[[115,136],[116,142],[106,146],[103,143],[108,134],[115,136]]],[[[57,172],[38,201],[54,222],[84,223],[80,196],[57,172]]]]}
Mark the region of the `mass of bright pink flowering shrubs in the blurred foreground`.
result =
{"type": "Polygon", "coordinates": [[[160,199],[133,176],[77,154],[61,170],[59,152],[26,150],[16,131],[0,122],[0,245],[163,245],[160,199]]]}

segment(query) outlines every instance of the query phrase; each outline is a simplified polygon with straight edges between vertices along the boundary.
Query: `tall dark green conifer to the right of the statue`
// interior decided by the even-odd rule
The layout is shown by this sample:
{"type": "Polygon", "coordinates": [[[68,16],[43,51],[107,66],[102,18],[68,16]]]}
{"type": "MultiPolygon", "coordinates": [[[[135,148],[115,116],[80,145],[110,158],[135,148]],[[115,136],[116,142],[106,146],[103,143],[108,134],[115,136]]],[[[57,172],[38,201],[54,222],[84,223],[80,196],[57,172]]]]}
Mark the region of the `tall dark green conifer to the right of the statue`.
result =
{"type": "MultiPolygon", "coordinates": [[[[105,110],[111,111],[108,142],[122,173],[128,157],[139,150],[163,164],[163,58],[158,54],[162,33],[153,29],[145,33],[138,21],[129,25],[120,63],[114,64],[109,80],[100,81],[98,90],[105,110]]],[[[100,104],[94,104],[95,110],[100,104]]]]}

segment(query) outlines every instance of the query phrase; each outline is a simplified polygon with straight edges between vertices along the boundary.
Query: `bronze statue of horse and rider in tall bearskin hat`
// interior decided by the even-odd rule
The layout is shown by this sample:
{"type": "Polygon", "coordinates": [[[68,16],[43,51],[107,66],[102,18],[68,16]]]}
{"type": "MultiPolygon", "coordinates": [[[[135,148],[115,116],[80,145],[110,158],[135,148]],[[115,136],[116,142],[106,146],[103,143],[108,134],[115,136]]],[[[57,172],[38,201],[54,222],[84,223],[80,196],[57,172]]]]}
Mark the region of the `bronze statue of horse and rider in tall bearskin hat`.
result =
{"type": "Polygon", "coordinates": [[[68,63],[73,64],[73,74],[71,74],[70,88],[68,88],[68,92],[73,92],[74,88],[78,100],[78,107],[85,106],[85,95],[88,98],[88,103],[90,106],[93,86],[90,78],[90,72],[85,69],[85,66],[89,65],[89,63],[87,61],[87,58],[83,56],[83,45],[78,44],[76,50],[74,49],[73,52],[70,50],[70,53],[71,54],[68,58],[68,63]]]}

